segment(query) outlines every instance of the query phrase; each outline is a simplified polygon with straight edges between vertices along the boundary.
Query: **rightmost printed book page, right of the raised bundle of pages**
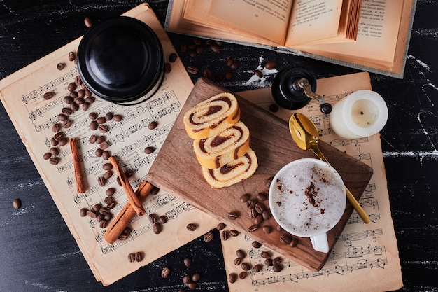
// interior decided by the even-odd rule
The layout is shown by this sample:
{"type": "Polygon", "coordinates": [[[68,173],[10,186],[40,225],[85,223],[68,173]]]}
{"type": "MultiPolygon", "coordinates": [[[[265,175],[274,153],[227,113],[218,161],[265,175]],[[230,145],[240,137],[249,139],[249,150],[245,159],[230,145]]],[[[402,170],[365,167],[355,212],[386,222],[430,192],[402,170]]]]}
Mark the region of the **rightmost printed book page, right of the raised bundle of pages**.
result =
{"type": "Polygon", "coordinates": [[[404,1],[406,4],[402,5],[399,1],[362,0],[357,41],[291,47],[347,62],[357,62],[357,57],[360,57],[368,60],[370,67],[372,64],[381,65],[382,62],[391,66],[395,57],[402,9],[406,8],[408,2],[404,1]]]}

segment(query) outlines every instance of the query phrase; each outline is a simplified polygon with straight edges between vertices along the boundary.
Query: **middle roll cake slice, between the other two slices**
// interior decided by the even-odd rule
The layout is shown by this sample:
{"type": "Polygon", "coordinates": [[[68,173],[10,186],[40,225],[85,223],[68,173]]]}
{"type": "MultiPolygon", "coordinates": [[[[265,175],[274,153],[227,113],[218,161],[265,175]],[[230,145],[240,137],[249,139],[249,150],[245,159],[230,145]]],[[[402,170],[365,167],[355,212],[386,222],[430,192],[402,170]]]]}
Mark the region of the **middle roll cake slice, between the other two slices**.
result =
{"type": "Polygon", "coordinates": [[[241,121],[206,139],[193,141],[196,158],[202,167],[218,168],[244,155],[250,148],[248,127],[241,121]]]}

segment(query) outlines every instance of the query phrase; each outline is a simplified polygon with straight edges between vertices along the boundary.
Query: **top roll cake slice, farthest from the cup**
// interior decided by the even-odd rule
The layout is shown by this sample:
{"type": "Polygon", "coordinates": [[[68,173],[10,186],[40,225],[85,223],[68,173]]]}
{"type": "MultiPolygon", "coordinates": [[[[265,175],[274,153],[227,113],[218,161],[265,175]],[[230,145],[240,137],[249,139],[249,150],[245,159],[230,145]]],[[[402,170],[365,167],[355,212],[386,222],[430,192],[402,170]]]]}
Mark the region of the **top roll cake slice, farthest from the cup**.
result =
{"type": "Polygon", "coordinates": [[[240,119],[236,97],[223,92],[200,102],[183,116],[185,132],[192,139],[205,139],[232,127],[240,119]]]}

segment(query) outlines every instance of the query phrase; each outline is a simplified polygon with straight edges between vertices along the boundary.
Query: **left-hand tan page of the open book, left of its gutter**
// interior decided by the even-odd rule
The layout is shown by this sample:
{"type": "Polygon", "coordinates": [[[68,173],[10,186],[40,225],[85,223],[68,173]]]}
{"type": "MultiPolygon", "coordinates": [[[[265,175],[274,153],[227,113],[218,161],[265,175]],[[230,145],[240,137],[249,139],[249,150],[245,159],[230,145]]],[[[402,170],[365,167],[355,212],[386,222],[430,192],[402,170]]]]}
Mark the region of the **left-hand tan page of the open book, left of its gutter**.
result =
{"type": "Polygon", "coordinates": [[[292,2],[284,0],[211,1],[209,15],[276,43],[284,43],[292,2]]]}

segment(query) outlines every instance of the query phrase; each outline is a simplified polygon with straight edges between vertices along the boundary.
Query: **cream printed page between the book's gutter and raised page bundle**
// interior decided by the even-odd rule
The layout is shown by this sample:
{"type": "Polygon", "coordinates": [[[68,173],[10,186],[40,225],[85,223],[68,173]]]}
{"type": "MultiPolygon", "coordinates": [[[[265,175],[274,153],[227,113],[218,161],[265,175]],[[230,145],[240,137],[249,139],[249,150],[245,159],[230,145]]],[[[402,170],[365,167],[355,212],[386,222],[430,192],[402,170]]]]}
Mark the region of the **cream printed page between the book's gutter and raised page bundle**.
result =
{"type": "Polygon", "coordinates": [[[330,39],[338,35],[342,0],[297,0],[292,6],[287,46],[330,39]]]}

